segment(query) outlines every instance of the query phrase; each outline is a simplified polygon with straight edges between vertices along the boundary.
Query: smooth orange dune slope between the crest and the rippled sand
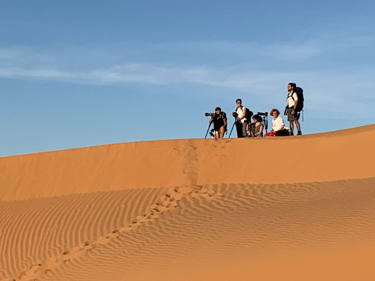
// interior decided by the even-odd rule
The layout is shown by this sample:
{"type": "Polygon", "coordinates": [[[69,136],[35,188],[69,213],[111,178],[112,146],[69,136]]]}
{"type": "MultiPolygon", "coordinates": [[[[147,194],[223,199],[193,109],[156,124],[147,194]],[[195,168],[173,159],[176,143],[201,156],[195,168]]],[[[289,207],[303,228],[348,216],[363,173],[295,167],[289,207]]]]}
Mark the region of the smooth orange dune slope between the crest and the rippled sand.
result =
{"type": "MultiPolygon", "coordinates": [[[[21,200],[125,188],[332,181],[375,176],[375,125],[265,139],[120,143],[0,158],[0,198],[21,200]],[[300,155],[293,177],[288,155],[300,155]],[[240,159],[247,160],[241,161],[240,159]],[[257,176],[251,171],[257,169],[257,176]],[[272,172],[271,172],[272,170],[272,172]]],[[[291,161],[296,161],[292,159],[291,161]]]]}

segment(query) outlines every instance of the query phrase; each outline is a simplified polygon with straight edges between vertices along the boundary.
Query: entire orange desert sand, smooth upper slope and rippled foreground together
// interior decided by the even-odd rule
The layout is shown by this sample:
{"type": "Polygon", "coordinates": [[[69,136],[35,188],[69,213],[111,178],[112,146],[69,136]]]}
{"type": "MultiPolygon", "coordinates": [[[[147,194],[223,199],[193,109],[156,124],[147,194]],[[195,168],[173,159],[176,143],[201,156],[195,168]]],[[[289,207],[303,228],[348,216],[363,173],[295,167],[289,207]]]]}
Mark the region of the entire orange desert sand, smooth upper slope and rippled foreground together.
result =
{"type": "Polygon", "coordinates": [[[369,125],[1,157],[0,280],[375,280],[374,145],[369,125]]]}

